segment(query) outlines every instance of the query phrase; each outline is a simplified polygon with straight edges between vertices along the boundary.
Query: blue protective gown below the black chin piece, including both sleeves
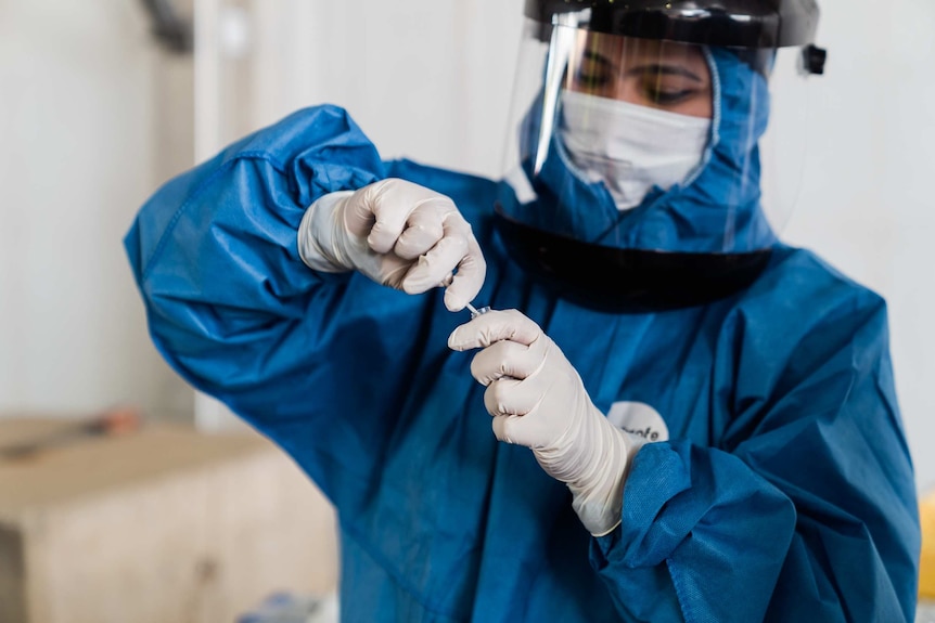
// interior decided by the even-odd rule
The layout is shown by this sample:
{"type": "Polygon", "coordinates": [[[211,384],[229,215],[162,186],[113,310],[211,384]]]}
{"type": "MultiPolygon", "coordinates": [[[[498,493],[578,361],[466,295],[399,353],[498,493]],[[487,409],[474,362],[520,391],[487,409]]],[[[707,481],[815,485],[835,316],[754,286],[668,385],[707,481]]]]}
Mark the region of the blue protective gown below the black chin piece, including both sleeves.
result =
{"type": "Polygon", "coordinates": [[[590,311],[507,256],[496,193],[384,163],[321,106],[168,182],[126,237],[166,360],[334,503],[343,620],[911,621],[919,524],[884,301],[779,246],[729,299],[590,311]],[[536,321],[599,408],[664,417],[670,439],[637,454],[610,535],[495,439],[472,353],[446,346],[466,312],[299,259],[308,205],[386,177],[454,199],[488,262],[476,302],[536,321]]]}

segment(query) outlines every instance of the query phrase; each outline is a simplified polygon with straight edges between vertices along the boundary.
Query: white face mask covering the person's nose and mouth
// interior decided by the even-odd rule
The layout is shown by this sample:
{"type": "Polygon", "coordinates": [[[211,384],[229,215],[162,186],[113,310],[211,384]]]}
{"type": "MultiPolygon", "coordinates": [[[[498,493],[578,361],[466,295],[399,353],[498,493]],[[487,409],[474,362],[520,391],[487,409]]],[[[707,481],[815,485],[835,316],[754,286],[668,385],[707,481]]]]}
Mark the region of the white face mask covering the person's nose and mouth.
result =
{"type": "Polygon", "coordinates": [[[562,93],[559,134],[590,182],[604,182],[617,209],[633,208],[653,186],[684,182],[701,163],[710,119],[575,91],[562,93]]]}

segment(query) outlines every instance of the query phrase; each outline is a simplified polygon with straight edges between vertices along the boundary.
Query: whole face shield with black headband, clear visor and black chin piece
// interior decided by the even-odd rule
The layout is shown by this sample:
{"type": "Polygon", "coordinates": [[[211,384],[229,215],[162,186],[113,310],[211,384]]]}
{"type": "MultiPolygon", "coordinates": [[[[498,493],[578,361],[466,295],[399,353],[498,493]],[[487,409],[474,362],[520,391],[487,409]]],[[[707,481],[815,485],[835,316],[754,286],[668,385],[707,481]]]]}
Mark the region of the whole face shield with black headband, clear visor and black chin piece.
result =
{"type": "Polygon", "coordinates": [[[588,4],[527,2],[497,205],[504,243],[591,307],[670,309],[748,286],[798,187],[805,77],[823,63],[810,47],[817,9],[588,4]]]}

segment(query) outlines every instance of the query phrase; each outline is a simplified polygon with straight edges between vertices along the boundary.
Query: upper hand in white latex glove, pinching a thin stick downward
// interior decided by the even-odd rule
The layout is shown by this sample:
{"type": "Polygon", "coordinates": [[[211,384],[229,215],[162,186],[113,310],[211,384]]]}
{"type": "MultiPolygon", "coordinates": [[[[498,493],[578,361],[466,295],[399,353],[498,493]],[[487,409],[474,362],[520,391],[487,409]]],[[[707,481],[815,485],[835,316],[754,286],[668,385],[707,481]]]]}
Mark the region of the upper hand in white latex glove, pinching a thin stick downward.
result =
{"type": "Polygon", "coordinates": [[[477,296],[487,271],[454,203],[398,179],[315,202],[299,225],[298,250],[313,270],[356,270],[409,294],[446,286],[445,307],[452,312],[477,296]]]}

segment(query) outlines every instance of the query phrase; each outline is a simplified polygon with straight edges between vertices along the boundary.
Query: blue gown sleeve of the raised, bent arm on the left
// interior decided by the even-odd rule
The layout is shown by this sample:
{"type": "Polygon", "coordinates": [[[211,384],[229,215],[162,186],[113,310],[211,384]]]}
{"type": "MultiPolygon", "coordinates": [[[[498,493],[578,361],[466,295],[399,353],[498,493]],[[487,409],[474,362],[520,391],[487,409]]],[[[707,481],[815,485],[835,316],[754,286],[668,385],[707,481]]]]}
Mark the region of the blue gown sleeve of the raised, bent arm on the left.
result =
{"type": "Polygon", "coordinates": [[[317,198],[384,172],[343,109],[307,108],[166,183],[125,238],[162,355],[340,507],[364,497],[379,465],[427,301],[311,271],[296,232],[317,198]]]}

